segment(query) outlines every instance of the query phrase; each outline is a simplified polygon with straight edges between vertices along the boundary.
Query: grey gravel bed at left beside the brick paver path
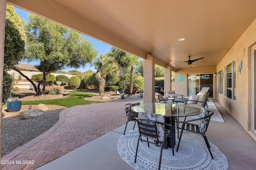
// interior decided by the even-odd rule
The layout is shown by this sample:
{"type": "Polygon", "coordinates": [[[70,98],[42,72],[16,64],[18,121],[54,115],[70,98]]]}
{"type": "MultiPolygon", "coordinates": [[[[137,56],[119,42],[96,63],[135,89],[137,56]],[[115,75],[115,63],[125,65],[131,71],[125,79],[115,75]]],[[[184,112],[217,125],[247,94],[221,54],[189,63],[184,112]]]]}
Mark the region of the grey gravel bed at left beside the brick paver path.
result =
{"type": "Polygon", "coordinates": [[[1,156],[8,154],[52,127],[58,122],[59,113],[62,110],[64,109],[46,111],[32,119],[21,119],[20,115],[3,118],[1,156]]]}

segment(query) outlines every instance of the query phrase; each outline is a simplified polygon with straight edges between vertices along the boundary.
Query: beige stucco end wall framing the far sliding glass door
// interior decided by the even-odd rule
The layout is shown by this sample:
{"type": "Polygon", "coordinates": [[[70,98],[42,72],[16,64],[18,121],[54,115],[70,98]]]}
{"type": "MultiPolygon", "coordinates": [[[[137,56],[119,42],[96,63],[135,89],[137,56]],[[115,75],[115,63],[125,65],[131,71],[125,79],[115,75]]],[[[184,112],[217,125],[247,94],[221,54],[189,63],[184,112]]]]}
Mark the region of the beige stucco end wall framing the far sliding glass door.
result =
{"type": "MultiPolygon", "coordinates": [[[[204,73],[215,73],[216,67],[200,67],[200,68],[189,68],[182,69],[175,73],[175,93],[185,96],[188,96],[188,74],[204,74],[204,73]],[[183,75],[184,81],[178,81],[178,76],[183,75]]],[[[216,76],[217,77],[217,76],[216,76]]],[[[216,77],[214,77],[214,87],[216,87],[216,77]]],[[[214,88],[214,97],[216,97],[216,90],[214,88]]]]}

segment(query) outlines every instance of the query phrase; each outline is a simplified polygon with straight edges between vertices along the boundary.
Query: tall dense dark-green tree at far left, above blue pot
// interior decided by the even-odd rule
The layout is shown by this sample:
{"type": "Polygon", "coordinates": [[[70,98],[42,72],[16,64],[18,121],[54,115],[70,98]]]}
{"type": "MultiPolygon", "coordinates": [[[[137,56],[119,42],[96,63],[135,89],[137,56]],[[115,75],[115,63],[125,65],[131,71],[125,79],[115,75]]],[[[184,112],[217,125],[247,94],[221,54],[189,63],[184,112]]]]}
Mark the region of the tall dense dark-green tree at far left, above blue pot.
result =
{"type": "Polygon", "coordinates": [[[6,24],[4,38],[4,73],[2,104],[11,97],[13,82],[12,76],[7,73],[14,65],[21,61],[25,51],[26,36],[22,23],[14,8],[6,5],[6,24]]]}

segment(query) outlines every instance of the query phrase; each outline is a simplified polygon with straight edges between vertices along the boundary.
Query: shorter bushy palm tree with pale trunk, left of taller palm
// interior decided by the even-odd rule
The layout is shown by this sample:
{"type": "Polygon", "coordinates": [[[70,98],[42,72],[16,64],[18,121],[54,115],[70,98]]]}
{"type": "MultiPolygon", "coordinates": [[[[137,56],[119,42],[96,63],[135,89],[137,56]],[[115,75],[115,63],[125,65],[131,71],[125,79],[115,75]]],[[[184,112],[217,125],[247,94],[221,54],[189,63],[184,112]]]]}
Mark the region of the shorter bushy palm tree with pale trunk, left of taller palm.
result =
{"type": "Polygon", "coordinates": [[[95,77],[99,82],[99,93],[100,95],[104,95],[106,77],[108,75],[119,77],[119,65],[115,57],[103,54],[94,62],[94,67],[97,69],[95,77]]]}

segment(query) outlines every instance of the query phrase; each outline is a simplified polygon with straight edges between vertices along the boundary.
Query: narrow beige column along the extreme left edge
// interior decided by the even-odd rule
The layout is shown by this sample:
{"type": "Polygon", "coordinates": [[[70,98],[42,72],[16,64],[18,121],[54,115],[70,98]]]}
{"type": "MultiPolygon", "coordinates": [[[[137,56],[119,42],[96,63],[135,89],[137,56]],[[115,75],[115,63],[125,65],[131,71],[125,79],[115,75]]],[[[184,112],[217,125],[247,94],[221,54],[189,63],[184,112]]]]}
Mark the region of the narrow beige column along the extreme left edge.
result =
{"type": "MultiPolygon", "coordinates": [[[[4,70],[4,30],[6,16],[6,0],[0,0],[0,105],[2,106],[3,95],[3,70],[4,70]]],[[[2,109],[0,111],[2,117],[2,109]]],[[[1,121],[0,121],[0,148],[1,148],[1,121]]],[[[0,152],[1,154],[1,152],[0,152]]],[[[1,158],[0,158],[1,160],[1,158]]],[[[2,166],[0,165],[0,169],[2,166]]]]}

